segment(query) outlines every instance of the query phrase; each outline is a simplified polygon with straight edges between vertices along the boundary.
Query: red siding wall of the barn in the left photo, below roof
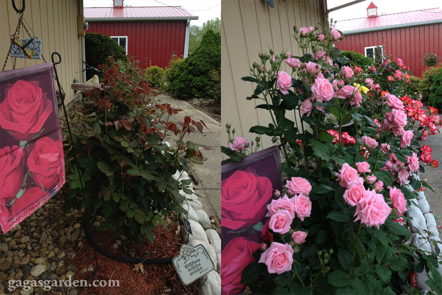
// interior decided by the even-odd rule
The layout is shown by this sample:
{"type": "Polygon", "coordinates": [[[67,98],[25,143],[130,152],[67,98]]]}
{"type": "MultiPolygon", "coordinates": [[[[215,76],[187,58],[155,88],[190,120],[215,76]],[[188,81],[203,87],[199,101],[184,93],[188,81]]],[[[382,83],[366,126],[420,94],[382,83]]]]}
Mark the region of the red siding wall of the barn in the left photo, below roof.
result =
{"type": "Polygon", "coordinates": [[[128,36],[127,54],[139,60],[143,68],[151,65],[165,68],[172,55],[184,54],[187,21],[88,23],[89,32],[128,36]]]}

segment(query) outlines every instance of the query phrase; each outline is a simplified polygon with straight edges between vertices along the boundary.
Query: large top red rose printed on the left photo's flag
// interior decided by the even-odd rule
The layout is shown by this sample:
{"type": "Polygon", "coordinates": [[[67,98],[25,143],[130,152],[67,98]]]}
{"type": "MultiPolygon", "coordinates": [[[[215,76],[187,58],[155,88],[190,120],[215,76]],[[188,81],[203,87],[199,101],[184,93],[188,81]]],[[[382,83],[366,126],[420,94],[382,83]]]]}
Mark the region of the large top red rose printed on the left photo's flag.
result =
{"type": "Polygon", "coordinates": [[[19,80],[0,103],[0,126],[25,141],[38,133],[52,112],[52,103],[36,81],[19,80]]]}

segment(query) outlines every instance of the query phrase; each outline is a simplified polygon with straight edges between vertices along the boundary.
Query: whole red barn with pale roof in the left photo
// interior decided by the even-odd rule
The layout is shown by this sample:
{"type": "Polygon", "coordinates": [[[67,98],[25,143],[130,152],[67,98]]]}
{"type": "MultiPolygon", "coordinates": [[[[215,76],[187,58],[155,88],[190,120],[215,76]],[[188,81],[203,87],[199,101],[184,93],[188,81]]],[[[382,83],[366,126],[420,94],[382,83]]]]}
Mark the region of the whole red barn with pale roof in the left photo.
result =
{"type": "Polygon", "coordinates": [[[123,0],[114,0],[113,7],[84,7],[84,18],[87,31],[115,39],[143,68],[165,68],[172,56],[186,58],[190,21],[198,19],[181,6],[124,7],[123,0]]]}

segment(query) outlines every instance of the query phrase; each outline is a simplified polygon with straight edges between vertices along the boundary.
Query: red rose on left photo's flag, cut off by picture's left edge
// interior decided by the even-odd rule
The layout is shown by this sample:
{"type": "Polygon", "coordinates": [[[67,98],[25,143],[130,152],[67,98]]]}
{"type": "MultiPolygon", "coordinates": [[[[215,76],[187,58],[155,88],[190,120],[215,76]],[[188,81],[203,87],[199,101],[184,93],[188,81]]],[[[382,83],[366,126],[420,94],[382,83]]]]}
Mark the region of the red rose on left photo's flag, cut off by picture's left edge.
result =
{"type": "Polygon", "coordinates": [[[23,149],[12,146],[0,149],[0,199],[2,204],[9,204],[23,184],[23,149]]]}

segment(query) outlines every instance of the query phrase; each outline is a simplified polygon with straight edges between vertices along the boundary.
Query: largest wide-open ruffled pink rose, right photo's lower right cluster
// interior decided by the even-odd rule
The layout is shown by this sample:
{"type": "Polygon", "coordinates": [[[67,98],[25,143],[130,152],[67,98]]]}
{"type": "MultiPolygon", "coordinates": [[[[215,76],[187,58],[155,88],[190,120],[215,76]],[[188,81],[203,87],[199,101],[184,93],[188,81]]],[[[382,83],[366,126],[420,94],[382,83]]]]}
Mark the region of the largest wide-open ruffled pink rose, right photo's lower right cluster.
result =
{"type": "Polygon", "coordinates": [[[375,190],[367,190],[365,198],[356,206],[355,221],[360,220],[367,227],[375,226],[379,230],[379,226],[385,223],[390,213],[391,208],[384,197],[375,190]]]}

